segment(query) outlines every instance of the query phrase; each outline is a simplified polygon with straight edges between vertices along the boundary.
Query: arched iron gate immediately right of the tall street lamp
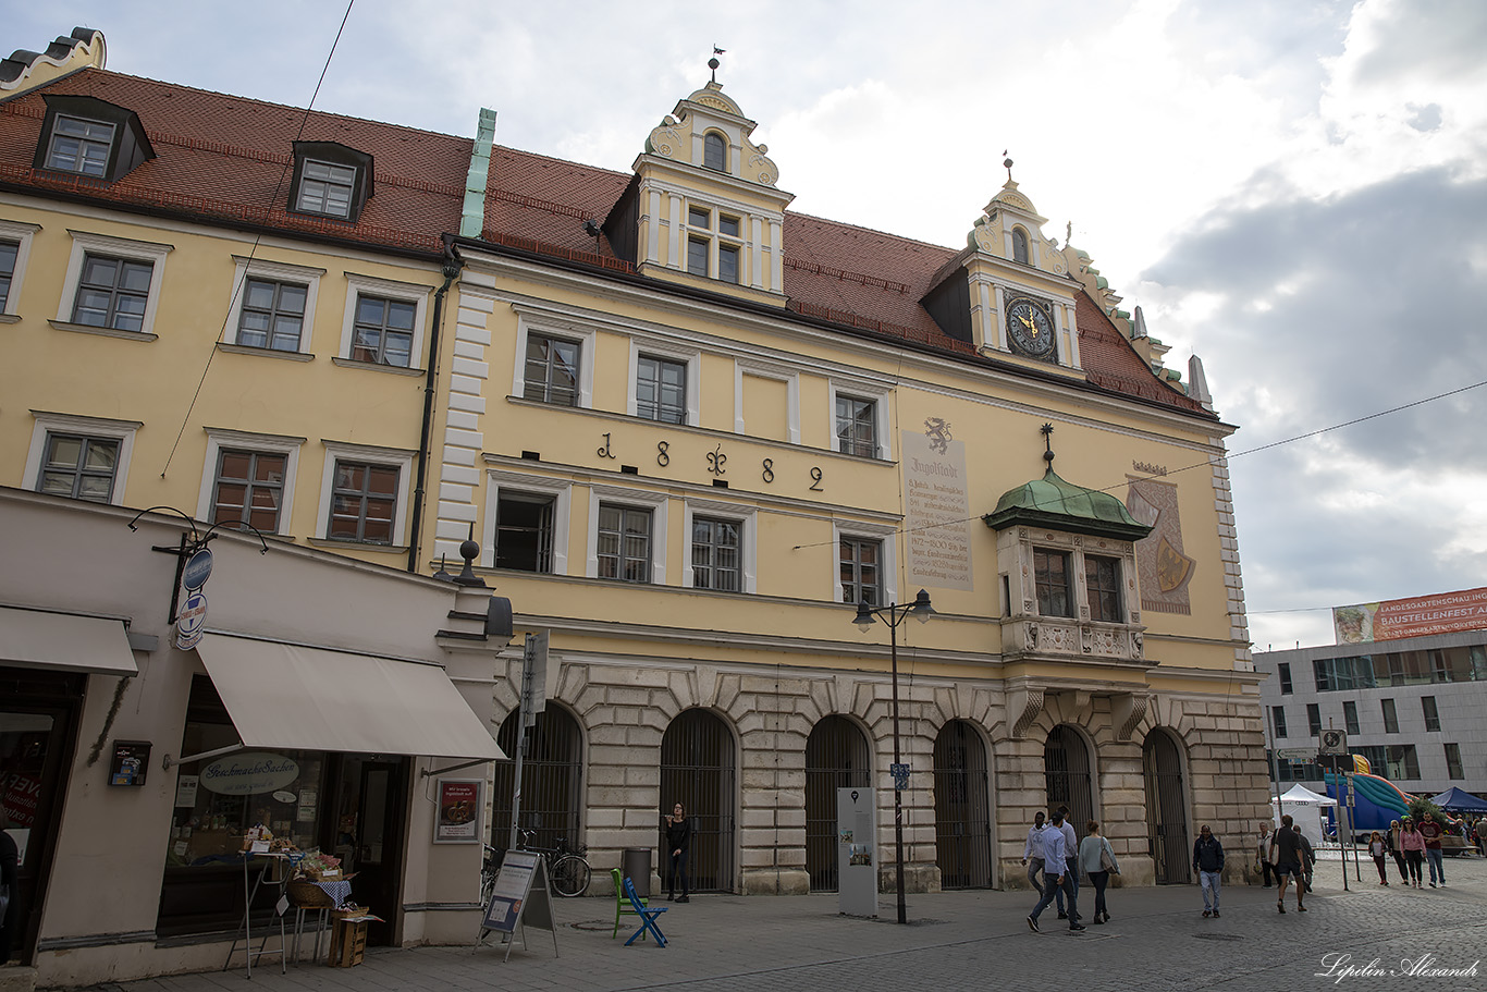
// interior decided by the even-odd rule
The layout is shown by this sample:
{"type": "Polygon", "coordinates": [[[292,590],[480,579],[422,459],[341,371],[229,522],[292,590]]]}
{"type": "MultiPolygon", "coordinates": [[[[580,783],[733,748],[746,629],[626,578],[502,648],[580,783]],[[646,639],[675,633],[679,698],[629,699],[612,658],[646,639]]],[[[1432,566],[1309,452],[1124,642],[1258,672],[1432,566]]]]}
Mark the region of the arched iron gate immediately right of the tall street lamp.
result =
{"type": "Polygon", "coordinates": [[[992,888],[986,744],[962,720],[944,724],[934,742],[934,836],[941,888],[992,888]]]}

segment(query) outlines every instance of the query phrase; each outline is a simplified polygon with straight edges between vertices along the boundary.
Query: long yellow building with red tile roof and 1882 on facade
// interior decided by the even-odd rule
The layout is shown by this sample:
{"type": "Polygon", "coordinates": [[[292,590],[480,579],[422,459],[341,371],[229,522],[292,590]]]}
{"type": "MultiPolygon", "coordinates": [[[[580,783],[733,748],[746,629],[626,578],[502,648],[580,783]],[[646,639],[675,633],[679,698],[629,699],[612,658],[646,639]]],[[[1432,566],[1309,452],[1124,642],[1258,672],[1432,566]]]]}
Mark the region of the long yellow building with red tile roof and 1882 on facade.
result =
{"type": "MultiPolygon", "coordinates": [[[[1026,885],[1039,809],[1100,821],[1124,885],[1265,818],[1233,427],[1010,162],[938,247],[791,213],[717,82],[613,173],[498,146],[491,112],[457,138],[110,73],[97,31],[25,55],[0,483],[269,558],[467,552],[550,634],[540,840],[604,872],[680,802],[691,888],[831,889],[837,788],[871,788],[886,891],[895,750],[915,891],[1026,885]]],[[[515,754],[520,650],[492,659],[515,754]]]]}

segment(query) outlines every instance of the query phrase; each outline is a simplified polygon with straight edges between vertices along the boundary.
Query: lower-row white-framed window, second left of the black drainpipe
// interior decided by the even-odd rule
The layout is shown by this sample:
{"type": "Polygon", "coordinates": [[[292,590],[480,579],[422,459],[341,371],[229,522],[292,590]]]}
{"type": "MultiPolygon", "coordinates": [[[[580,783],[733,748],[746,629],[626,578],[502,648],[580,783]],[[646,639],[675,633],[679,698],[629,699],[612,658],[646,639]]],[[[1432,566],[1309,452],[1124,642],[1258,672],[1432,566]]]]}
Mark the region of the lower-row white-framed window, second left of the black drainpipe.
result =
{"type": "Polygon", "coordinates": [[[265,534],[288,534],[303,445],[303,437],[207,428],[196,519],[244,521],[265,534]]]}

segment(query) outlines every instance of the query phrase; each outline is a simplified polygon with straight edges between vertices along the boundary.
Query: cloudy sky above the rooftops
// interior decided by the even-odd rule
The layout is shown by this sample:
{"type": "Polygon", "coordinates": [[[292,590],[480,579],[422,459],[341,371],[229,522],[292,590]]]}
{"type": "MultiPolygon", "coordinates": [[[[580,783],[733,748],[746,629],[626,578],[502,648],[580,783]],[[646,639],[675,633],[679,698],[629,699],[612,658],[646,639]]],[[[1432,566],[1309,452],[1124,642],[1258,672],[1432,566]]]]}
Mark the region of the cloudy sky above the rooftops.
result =
{"type": "MultiPolygon", "coordinates": [[[[315,107],[461,135],[491,107],[501,144],[629,170],[715,43],[793,210],[941,245],[1008,149],[1240,427],[1257,650],[1487,586],[1487,3],[699,6],[355,0],[315,107]]],[[[345,10],[0,0],[0,49],[82,24],[109,68],[303,106],[345,10]]]]}

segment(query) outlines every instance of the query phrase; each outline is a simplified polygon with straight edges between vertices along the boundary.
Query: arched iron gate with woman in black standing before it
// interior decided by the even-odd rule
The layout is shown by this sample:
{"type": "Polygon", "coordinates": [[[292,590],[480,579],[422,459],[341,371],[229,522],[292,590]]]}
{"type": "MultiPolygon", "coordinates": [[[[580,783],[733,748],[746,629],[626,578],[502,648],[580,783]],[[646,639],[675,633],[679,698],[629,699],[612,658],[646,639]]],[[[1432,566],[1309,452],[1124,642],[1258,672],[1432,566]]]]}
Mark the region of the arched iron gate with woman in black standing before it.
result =
{"type": "Polygon", "coordinates": [[[733,889],[733,809],[736,761],[727,724],[706,709],[687,709],[666,727],[660,741],[660,805],[656,866],[662,879],[671,872],[665,814],[677,803],[691,819],[687,875],[694,892],[733,889]]]}

